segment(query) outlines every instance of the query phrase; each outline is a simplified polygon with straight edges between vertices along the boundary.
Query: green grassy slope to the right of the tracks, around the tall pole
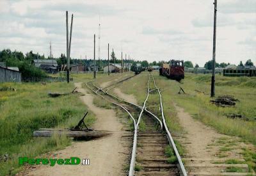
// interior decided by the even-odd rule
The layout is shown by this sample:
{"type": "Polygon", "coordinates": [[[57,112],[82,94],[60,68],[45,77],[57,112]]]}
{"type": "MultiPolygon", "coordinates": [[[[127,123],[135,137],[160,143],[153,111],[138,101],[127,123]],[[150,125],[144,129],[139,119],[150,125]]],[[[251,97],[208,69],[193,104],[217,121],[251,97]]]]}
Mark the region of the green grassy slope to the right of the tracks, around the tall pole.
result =
{"type": "MultiPolygon", "coordinates": [[[[181,83],[168,80],[166,77],[154,73],[157,85],[163,90],[164,106],[177,103],[194,118],[210,125],[216,131],[230,136],[238,136],[245,143],[256,145],[256,77],[223,77],[216,76],[216,97],[219,95],[234,95],[239,102],[236,106],[221,108],[211,104],[211,75],[186,74],[181,83]],[[181,86],[186,94],[179,94],[181,86]],[[198,93],[195,90],[199,90],[198,93]],[[232,119],[227,116],[239,114],[243,119],[232,119]]],[[[228,140],[225,141],[228,144],[228,140]]],[[[222,148],[223,149],[223,148],[222,148]]],[[[256,170],[255,148],[240,148],[250,170],[256,170]]]]}

